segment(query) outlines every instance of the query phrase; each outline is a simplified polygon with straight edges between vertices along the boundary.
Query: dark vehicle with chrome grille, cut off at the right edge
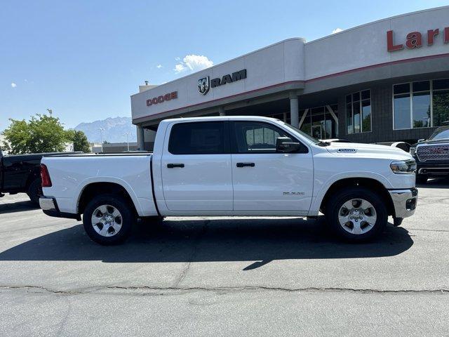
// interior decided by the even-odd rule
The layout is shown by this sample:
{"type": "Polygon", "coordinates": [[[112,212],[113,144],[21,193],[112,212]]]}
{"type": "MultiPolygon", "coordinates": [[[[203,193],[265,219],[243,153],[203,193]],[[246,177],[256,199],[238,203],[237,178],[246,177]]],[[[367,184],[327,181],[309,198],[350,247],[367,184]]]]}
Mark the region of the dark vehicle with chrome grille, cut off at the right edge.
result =
{"type": "Polygon", "coordinates": [[[417,183],[426,183],[428,178],[449,177],[449,125],[437,128],[427,140],[418,140],[410,147],[410,154],[417,164],[417,183]]]}

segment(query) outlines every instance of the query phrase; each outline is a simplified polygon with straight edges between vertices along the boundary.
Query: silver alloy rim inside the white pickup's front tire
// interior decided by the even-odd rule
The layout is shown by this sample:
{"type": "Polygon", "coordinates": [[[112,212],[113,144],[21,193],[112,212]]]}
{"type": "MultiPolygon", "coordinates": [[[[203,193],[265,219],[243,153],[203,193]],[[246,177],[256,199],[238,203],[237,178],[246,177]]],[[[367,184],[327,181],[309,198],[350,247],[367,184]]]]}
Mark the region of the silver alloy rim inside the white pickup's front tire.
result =
{"type": "Polygon", "coordinates": [[[376,219],[374,206],[365,199],[350,199],[338,211],[340,226],[351,234],[365,234],[372,230],[376,219]]]}

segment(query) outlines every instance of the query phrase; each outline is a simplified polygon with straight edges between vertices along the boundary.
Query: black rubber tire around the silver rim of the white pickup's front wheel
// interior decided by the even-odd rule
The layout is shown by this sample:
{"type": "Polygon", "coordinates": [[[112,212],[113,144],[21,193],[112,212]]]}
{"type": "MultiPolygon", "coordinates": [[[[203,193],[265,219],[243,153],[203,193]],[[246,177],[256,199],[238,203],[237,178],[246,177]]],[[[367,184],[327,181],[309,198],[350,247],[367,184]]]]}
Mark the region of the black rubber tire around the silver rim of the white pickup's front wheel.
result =
{"type": "MultiPolygon", "coordinates": [[[[358,206],[355,206],[357,208],[358,206]]],[[[370,209],[370,212],[373,210],[370,209]]],[[[348,214],[349,216],[349,214],[348,214]]],[[[357,218],[357,217],[356,217],[357,218]]],[[[351,220],[354,221],[354,220],[351,220]]],[[[344,190],[340,190],[335,193],[335,196],[329,199],[326,206],[326,223],[340,238],[348,242],[366,242],[370,239],[377,237],[384,231],[388,222],[387,207],[385,206],[382,198],[375,192],[368,190],[365,187],[349,187],[344,190]],[[361,234],[353,234],[348,230],[351,230],[350,226],[340,225],[339,212],[343,204],[351,199],[364,199],[368,201],[374,208],[376,220],[373,226],[368,226],[363,220],[361,220],[360,226],[363,223],[367,230],[361,234]],[[344,229],[347,228],[347,229],[344,229]],[[369,229],[370,227],[370,229],[369,229]]],[[[351,225],[351,223],[349,223],[351,225]]]]}

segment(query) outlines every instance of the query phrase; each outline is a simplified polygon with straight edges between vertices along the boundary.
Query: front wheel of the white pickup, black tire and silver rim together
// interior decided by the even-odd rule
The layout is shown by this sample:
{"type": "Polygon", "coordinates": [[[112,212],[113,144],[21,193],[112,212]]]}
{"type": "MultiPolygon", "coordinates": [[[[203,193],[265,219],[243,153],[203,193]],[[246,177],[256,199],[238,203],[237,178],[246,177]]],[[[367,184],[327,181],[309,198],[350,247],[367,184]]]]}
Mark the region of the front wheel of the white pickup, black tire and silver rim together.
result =
{"type": "Polygon", "coordinates": [[[330,198],[326,221],[343,239],[362,242],[376,237],[387,225],[387,207],[374,192],[364,187],[349,187],[330,198]]]}

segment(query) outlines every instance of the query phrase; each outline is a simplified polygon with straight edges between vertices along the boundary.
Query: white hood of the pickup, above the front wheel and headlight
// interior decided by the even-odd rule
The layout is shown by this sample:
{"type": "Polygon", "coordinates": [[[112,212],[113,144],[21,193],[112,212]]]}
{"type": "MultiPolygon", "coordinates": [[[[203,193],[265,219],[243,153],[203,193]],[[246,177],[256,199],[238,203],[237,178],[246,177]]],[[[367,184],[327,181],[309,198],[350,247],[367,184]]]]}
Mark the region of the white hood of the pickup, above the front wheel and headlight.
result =
{"type": "Polygon", "coordinates": [[[413,157],[397,147],[364,143],[330,143],[326,150],[342,157],[382,158],[392,160],[408,160],[413,157]]]}

